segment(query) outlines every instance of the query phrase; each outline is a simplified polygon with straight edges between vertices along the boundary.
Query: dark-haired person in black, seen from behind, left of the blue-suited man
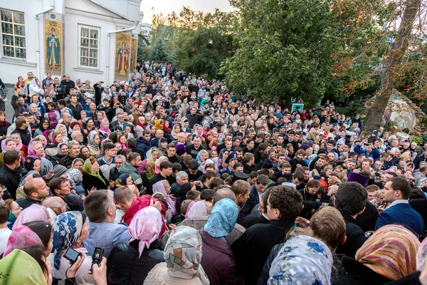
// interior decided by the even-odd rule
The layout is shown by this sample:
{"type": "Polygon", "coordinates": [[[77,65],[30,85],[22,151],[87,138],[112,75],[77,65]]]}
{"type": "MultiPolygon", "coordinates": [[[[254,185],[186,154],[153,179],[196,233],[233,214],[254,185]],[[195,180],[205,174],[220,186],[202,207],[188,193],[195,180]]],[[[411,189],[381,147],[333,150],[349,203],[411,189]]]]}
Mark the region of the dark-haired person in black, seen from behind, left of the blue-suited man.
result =
{"type": "Polygon", "coordinates": [[[363,229],[356,222],[357,215],[364,212],[367,197],[367,190],[357,182],[344,182],[339,185],[334,205],[344,217],[347,240],[338,247],[337,254],[354,258],[357,250],[367,240],[363,229]]]}

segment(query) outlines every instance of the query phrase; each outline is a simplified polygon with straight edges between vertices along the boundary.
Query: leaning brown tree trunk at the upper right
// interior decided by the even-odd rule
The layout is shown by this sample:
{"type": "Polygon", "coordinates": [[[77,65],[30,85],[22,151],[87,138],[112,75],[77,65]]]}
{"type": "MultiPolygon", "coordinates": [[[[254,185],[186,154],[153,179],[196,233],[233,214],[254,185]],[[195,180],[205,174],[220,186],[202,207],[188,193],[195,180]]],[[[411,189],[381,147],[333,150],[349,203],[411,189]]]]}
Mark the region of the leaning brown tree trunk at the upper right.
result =
{"type": "Polygon", "coordinates": [[[413,22],[416,19],[420,5],[421,0],[407,1],[396,40],[391,46],[389,56],[384,63],[384,69],[381,73],[381,89],[379,90],[379,94],[376,95],[374,104],[369,108],[367,117],[364,119],[362,132],[360,133],[361,136],[365,133],[370,134],[372,131],[378,130],[381,125],[381,120],[394,88],[394,81],[396,79],[394,69],[401,64],[404,58],[406,48],[408,48],[408,39],[412,33],[413,22]]]}

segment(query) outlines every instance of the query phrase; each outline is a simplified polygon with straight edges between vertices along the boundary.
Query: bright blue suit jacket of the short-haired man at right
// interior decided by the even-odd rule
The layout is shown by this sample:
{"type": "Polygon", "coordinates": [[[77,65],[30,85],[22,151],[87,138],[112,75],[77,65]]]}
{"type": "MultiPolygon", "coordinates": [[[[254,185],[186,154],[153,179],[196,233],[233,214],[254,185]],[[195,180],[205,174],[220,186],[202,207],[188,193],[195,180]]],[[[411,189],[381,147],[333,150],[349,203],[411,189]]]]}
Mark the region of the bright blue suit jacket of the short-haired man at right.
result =
{"type": "Polygon", "coordinates": [[[410,204],[406,203],[396,204],[381,212],[376,221],[375,230],[387,224],[401,224],[416,232],[418,236],[424,232],[423,218],[412,209],[410,204]]]}

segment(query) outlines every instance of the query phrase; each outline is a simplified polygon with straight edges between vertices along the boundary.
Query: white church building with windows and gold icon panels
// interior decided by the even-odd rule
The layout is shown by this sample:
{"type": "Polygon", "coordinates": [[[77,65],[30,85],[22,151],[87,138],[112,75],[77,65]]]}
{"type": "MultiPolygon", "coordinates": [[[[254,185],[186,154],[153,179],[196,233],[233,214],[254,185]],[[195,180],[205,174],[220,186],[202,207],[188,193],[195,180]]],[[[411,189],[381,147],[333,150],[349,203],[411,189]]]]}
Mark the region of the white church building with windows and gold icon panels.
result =
{"type": "Polygon", "coordinates": [[[32,72],[72,79],[127,80],[136,66],[142,0],[3,0],[0,78],[32,72]]]}

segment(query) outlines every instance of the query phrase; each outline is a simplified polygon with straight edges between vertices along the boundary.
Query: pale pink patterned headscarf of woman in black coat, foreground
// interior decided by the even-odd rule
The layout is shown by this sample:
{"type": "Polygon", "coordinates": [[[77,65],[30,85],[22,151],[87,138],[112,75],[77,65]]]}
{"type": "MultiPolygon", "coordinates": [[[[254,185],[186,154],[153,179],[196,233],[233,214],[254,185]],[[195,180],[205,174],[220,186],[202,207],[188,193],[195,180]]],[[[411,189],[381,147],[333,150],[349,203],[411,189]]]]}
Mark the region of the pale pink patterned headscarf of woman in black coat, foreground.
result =
{"type": "Polygon", "coordinates": [[[154,207],[144,207],[140,209],[127,228],[132,239],[139,239],[139,257],[141,257],[144,248],[149,248],[156,239],[159,238],[160,232],[162,232],[162,215],[159,210],[154,207]]]}

